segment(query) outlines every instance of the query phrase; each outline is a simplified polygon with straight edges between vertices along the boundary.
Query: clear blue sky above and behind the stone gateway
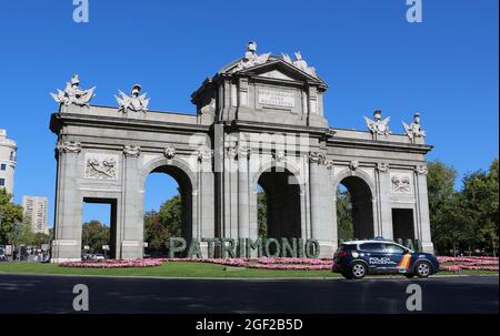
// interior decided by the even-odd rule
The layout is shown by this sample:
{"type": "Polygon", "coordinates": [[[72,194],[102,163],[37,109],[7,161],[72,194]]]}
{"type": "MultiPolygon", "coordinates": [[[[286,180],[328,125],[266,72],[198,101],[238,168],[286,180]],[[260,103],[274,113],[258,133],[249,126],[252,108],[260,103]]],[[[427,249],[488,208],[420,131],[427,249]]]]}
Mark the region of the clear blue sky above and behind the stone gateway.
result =
{"type": "MultiPolygon", "coordinates": [[[[401,132],[418,110],[430,160],[487,169],[498,157],[498,0],[422,2],[423,22],[408,23],[406,0],[89,0],[90,22],[77,24],[72,0],[2,1],[0,128],[19,145],[14,200],[47,195],[52,218],[49,92],[72,73],[98,86],[96,104],[116,105],[117,90],[139,82],[151,110],[194,112],[192,91],[249,40],[259,52],[302,52],[329,83],[331,126],[364,129],[362,115],[381,109],[401,132]]],[[[147,184],[148,208],[176,193],[166,176],[147,184]]]]}

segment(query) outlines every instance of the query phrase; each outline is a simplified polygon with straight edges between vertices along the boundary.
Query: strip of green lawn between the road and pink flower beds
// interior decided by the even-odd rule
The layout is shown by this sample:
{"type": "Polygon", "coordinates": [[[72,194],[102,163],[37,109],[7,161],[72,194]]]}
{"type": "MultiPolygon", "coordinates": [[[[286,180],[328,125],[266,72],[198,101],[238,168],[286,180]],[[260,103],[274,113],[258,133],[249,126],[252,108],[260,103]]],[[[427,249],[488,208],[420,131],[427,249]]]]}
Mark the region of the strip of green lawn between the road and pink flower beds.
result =
{"type": "MultiPolygon", "coordinates": [[[[204,263],[164,263],[157,267],[129,268],[76,268],[60,267],[57,264],[40,263],[0,263],[0,273],[19,274],[73,274],[73,275],[118,275],[118,276],[161,276],[161,277],[220,277],[220,278],[283,278],[283,277],[340,277],[330,271],[274,271],[274,269],[236,269],[226,271],[226,266],[204,263]]],[[[456,273],[441,272],[440,275],[456,273]]],[[[462,271],[459,274],[479,275],[498,274],[497,272],[462,271]]]]}

